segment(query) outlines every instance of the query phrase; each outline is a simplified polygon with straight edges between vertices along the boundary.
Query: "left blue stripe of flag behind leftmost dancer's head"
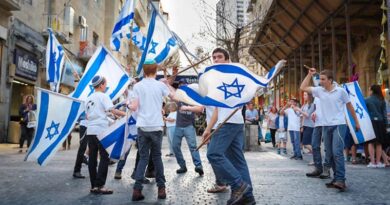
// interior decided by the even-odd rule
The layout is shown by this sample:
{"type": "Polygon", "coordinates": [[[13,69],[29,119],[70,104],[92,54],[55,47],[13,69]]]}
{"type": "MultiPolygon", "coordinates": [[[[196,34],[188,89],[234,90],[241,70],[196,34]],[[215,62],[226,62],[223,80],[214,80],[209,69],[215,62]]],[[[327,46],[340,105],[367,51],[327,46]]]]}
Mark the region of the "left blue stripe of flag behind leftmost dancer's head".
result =
{"type": "Polygon", "coordinates": [[[83,93],[84,89],[88,86],[88,83],[95,77],[96,73],[99,71],[100,66],[102,65],[104,59],[107,56],[106,49],[102,48],[99,55],[96,57],[96,60],[93,62],[92,66],[89,68],[88,72],[81,79],[79,85],[74,91],[72,97],[79,98],[83,93]]]}

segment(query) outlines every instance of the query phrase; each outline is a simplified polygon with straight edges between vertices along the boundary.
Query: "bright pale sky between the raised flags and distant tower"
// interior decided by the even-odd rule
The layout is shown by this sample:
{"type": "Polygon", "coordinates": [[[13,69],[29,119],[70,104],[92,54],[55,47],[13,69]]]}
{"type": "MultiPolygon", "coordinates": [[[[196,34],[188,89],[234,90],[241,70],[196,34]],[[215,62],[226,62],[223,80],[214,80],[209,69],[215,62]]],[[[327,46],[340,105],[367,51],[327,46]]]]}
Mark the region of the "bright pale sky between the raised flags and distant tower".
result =
{"type": "MultiPolygon", "coordinates": [[[[215,47],[213,43],[202,39],[198,34],[201,28],[205,27],[200,15],[205,15],[204,10],[207,9],[207,12],[214,14],[215,19],[216,3],[217,0],[161,0],[163,10],[169,13],[169,28],[177,33],[192,53],[195,53],[197,46],[203,47],[206,52],[211,52],[215,47]]],[[[182,52],[180,60],[182,67],[189,65],[182,52]]]]}

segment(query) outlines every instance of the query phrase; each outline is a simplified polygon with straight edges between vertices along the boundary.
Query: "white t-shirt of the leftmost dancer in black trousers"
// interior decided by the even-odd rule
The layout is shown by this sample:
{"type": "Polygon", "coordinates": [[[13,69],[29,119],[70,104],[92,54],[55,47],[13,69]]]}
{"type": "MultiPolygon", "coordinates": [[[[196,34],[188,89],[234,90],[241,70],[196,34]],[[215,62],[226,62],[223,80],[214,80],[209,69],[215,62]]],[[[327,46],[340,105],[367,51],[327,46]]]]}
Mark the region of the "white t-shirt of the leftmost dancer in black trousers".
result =
{"type": "Polygon", "coordinates": [[[87,115],[87,135],[98,135],[108,128],[107,113],[114,107],[108,95],[94,92],[87,98],[85,113],[87,115]]]}

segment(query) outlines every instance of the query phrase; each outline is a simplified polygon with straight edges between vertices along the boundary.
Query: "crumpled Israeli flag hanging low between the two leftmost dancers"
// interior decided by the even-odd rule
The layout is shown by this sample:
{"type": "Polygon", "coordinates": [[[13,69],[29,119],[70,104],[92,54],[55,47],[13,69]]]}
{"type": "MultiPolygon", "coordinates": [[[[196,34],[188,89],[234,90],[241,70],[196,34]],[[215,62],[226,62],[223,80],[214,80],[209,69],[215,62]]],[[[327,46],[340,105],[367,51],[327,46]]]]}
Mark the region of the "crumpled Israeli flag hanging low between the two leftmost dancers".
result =
{"type": "Polygon", "coordinates": [[[136,116],[123,117],[98,135],[100,143],[111,159],[120,160],[137,139],[136,116]]]}

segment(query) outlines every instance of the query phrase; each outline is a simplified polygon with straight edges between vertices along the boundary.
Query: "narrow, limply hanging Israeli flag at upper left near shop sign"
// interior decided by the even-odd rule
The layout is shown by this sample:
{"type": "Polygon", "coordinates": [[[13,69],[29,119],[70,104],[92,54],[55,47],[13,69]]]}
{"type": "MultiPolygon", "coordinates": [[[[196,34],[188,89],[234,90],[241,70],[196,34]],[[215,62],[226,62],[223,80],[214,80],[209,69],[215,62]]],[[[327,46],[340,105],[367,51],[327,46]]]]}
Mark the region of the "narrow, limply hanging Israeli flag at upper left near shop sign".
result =
{"type": "Polygon", "coordinates": [[[51,90],[58,92],[64,67],[65,52],[53,31],[50,28],[47,30],[49,39],[46,47],[46,80],[50,84],[51,90]]]}

